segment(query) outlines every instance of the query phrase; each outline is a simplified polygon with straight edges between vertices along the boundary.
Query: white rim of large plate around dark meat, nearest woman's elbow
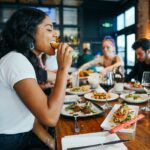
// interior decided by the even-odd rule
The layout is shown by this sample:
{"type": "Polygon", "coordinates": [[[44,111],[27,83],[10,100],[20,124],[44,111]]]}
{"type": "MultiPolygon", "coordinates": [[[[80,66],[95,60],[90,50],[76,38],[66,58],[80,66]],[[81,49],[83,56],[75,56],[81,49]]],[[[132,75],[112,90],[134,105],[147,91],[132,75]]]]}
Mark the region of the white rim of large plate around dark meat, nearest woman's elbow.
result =
{"type": "MultiPolygon", "coordinates": [[[[62,110],[61,110],[62,115],[67,116],[67,117],[73,117],[74,114],[78,114],[78,117],[90,117],[90,116],[100,115],[103,113],[103,109],[100,106],[95,105],[93,103],[91,103],[91,105],[92,105],[91,109],[93,111],[95,111],[95,113],[90,113],[90,114],[84,114],[81,111],[73,113],[71,110],[66,110],[65,108],[69,105],[70,104],[63,105],[62,110]]],[[[83,106],[83,105],[85,105],[85,103],[79,103],[78,105],[83,106]]]]}

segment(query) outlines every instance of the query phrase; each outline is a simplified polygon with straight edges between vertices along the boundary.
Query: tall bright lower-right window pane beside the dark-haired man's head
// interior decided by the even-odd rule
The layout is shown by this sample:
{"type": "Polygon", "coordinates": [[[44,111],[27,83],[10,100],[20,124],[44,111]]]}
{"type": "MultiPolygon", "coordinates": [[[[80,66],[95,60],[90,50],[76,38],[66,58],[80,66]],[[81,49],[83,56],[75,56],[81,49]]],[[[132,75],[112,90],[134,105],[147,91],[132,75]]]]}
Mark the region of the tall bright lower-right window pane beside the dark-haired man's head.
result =
{"type": "Polygon", "coordinates": [[[135,42],[135,34],[127,35],[127,66],[134,66],[135,51],[132,49],[132,44],[135,42]]]}

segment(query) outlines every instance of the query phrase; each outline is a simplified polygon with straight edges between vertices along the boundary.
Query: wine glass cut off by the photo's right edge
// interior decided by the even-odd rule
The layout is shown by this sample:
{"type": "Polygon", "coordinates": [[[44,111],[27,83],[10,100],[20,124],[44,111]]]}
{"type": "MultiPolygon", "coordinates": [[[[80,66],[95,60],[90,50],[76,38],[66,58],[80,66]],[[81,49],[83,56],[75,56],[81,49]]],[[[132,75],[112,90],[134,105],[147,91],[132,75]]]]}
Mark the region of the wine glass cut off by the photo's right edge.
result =
{"type": "Polygon", "coordinates": [[[150,111],[150,71],[144,71],[142,76],[142,86],[148,95],[147,106],[142,107],[142,110],[150,111]]]}

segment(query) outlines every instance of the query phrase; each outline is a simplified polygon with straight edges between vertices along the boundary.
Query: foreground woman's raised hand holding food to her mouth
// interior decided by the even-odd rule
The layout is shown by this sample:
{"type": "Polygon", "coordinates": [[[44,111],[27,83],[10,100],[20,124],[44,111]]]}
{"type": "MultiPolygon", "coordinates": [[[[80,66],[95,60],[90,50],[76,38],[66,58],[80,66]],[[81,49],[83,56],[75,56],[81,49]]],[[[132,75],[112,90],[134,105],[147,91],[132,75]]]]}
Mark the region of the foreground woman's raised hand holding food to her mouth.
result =
{"type": "Polygon", "coordinates": [[[65,43],[61,43],[59,45],[57,51],[58,70],[68,70],[70,68],[72,63],[72,51],[73,49],[65,43]]]}

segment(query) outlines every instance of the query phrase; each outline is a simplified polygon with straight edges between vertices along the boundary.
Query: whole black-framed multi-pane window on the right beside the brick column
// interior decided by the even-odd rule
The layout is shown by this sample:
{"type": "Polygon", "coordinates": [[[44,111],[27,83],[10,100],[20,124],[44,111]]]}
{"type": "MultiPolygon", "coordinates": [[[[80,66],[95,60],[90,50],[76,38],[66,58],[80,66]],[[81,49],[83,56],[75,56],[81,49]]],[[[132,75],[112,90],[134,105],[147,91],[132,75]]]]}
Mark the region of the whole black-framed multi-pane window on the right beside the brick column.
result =
{"type": "Polygon", "coordinates": [[[135,51],[132,44],[135,42],[135,6],[131,6],[116,17],[117,21],[117,50],[124,60],[126,72],[134,66],[135,51]]]}

